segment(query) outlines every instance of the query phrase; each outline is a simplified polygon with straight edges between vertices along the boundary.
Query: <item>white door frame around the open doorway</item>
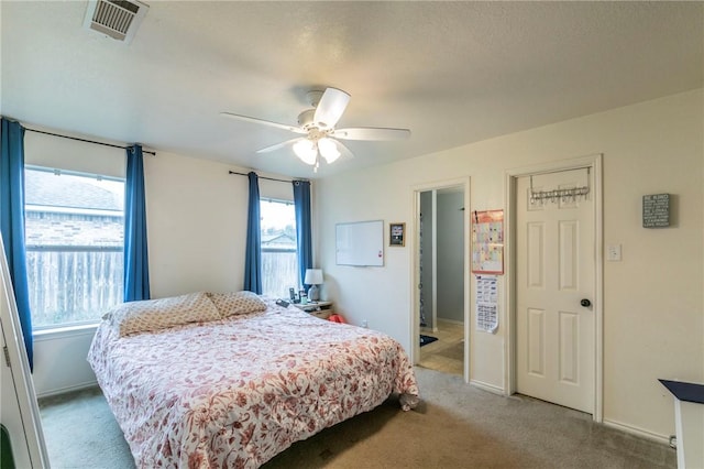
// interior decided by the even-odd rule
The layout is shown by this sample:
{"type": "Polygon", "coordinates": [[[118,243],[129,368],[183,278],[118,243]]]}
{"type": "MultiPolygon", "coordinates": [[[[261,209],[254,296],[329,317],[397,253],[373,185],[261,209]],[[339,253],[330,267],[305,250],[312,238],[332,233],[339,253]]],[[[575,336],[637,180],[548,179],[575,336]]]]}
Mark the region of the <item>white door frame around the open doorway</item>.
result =
{"type": "MultiPolygon", "coordinates": [[[[417,184],[411,186],[411,209],[414,214],[413,225],[409,227],[408,233],[410,234],[410,361],[414,364],[418,364],[418,360],[420,360],[420,343],[418,342],[418,337],[420,335],[420,292],[418,290],[418,285],[420,283],[419,277],[419,255],[418,252],[420,250],[420,193],[428,190],[440,190],[450,187],[461,186],[464,195],[464,363],[463,363],[463,378],[464,382],[470,382],[470,350],[471,350],[471,340],[470,340],[470,260],[471,260],[471,246],[470,246],[470,217],[468,217],[468,212],[470,211],[470,177],[460,177],[454,179],[443,179],[432,183],[417,184]]],[[[436,325],[433,324],[433,327],[436,325]]]]}

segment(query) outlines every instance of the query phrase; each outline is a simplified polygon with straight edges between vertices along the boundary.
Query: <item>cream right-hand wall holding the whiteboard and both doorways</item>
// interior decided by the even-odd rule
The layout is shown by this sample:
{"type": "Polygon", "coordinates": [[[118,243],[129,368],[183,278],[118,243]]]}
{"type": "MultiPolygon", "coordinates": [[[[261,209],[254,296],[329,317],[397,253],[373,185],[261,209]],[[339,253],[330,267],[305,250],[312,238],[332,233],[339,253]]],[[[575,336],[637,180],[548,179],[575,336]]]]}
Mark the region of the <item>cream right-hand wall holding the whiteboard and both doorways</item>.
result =
{"type": "MultiPolygon", "coordinates": [[[[674,434],[672,397],[657,379],[704,381],[703,105],[700,89],[321,181],[329,296],[350,321],[367,319],[409,349],[413,243],[387,249],[384,268],[336,265],[334,225],[383,219],[387,236],[388,221],[406,221],[413,233],[413,187],[461,176],[471,177],[471,210],[506,209],[507,170],[603,153],[604,242],[623,244],[623,261],[604,264],[604,419],[674,434]],[[673,225],[644,229],[641,197],[658,193],[674,196],[673,225]]],[[[506,386],[501,306],[498,332],[471,337],[471,379],[496,389],[506,386]]]]}

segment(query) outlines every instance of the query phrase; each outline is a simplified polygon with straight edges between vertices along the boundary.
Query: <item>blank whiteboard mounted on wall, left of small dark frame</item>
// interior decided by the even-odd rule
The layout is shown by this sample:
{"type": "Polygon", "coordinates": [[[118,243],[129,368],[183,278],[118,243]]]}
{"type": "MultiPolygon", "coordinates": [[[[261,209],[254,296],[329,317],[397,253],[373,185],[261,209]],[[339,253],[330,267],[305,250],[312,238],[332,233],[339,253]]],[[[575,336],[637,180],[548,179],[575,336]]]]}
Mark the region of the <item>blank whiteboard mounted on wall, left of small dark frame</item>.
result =
{"type": "Polygon", "coordinates": [[[336,226],[338,265],[384,265],[384,221],[356,221],[336,226]]]}

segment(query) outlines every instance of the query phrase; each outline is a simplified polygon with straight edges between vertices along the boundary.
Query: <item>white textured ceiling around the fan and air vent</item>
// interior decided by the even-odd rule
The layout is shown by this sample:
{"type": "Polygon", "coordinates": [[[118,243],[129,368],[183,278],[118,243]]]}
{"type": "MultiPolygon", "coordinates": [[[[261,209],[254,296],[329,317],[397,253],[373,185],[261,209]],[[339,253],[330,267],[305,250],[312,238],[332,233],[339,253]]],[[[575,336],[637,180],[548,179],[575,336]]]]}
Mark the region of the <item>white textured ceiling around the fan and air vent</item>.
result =
{"type": "Polygon", "coordinates": [[[297,177],[370,167],[704,84],[702,2],[156,1],[131,44],[82,28],[87,1],[0,2],[0,112],[30,128],[297,177]],[[317,174],[296,137],[311,87],[352,99],[317,174]]]}

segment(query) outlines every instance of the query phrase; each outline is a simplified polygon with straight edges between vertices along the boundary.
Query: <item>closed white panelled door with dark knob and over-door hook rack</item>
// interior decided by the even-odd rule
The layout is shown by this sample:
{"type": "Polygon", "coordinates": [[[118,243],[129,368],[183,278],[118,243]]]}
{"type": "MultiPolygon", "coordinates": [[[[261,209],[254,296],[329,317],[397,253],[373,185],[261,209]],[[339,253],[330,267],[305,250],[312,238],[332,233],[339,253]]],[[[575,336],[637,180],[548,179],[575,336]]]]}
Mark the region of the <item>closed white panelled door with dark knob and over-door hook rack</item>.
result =
{"type": "MultiPolygon", "coordinates": [[[[532,176],[532,189],[593,187],[586,168],[532,176]]],[[[517,181],[516,390],[594,412],[594,197],[534,200],[517,181]]]]}

